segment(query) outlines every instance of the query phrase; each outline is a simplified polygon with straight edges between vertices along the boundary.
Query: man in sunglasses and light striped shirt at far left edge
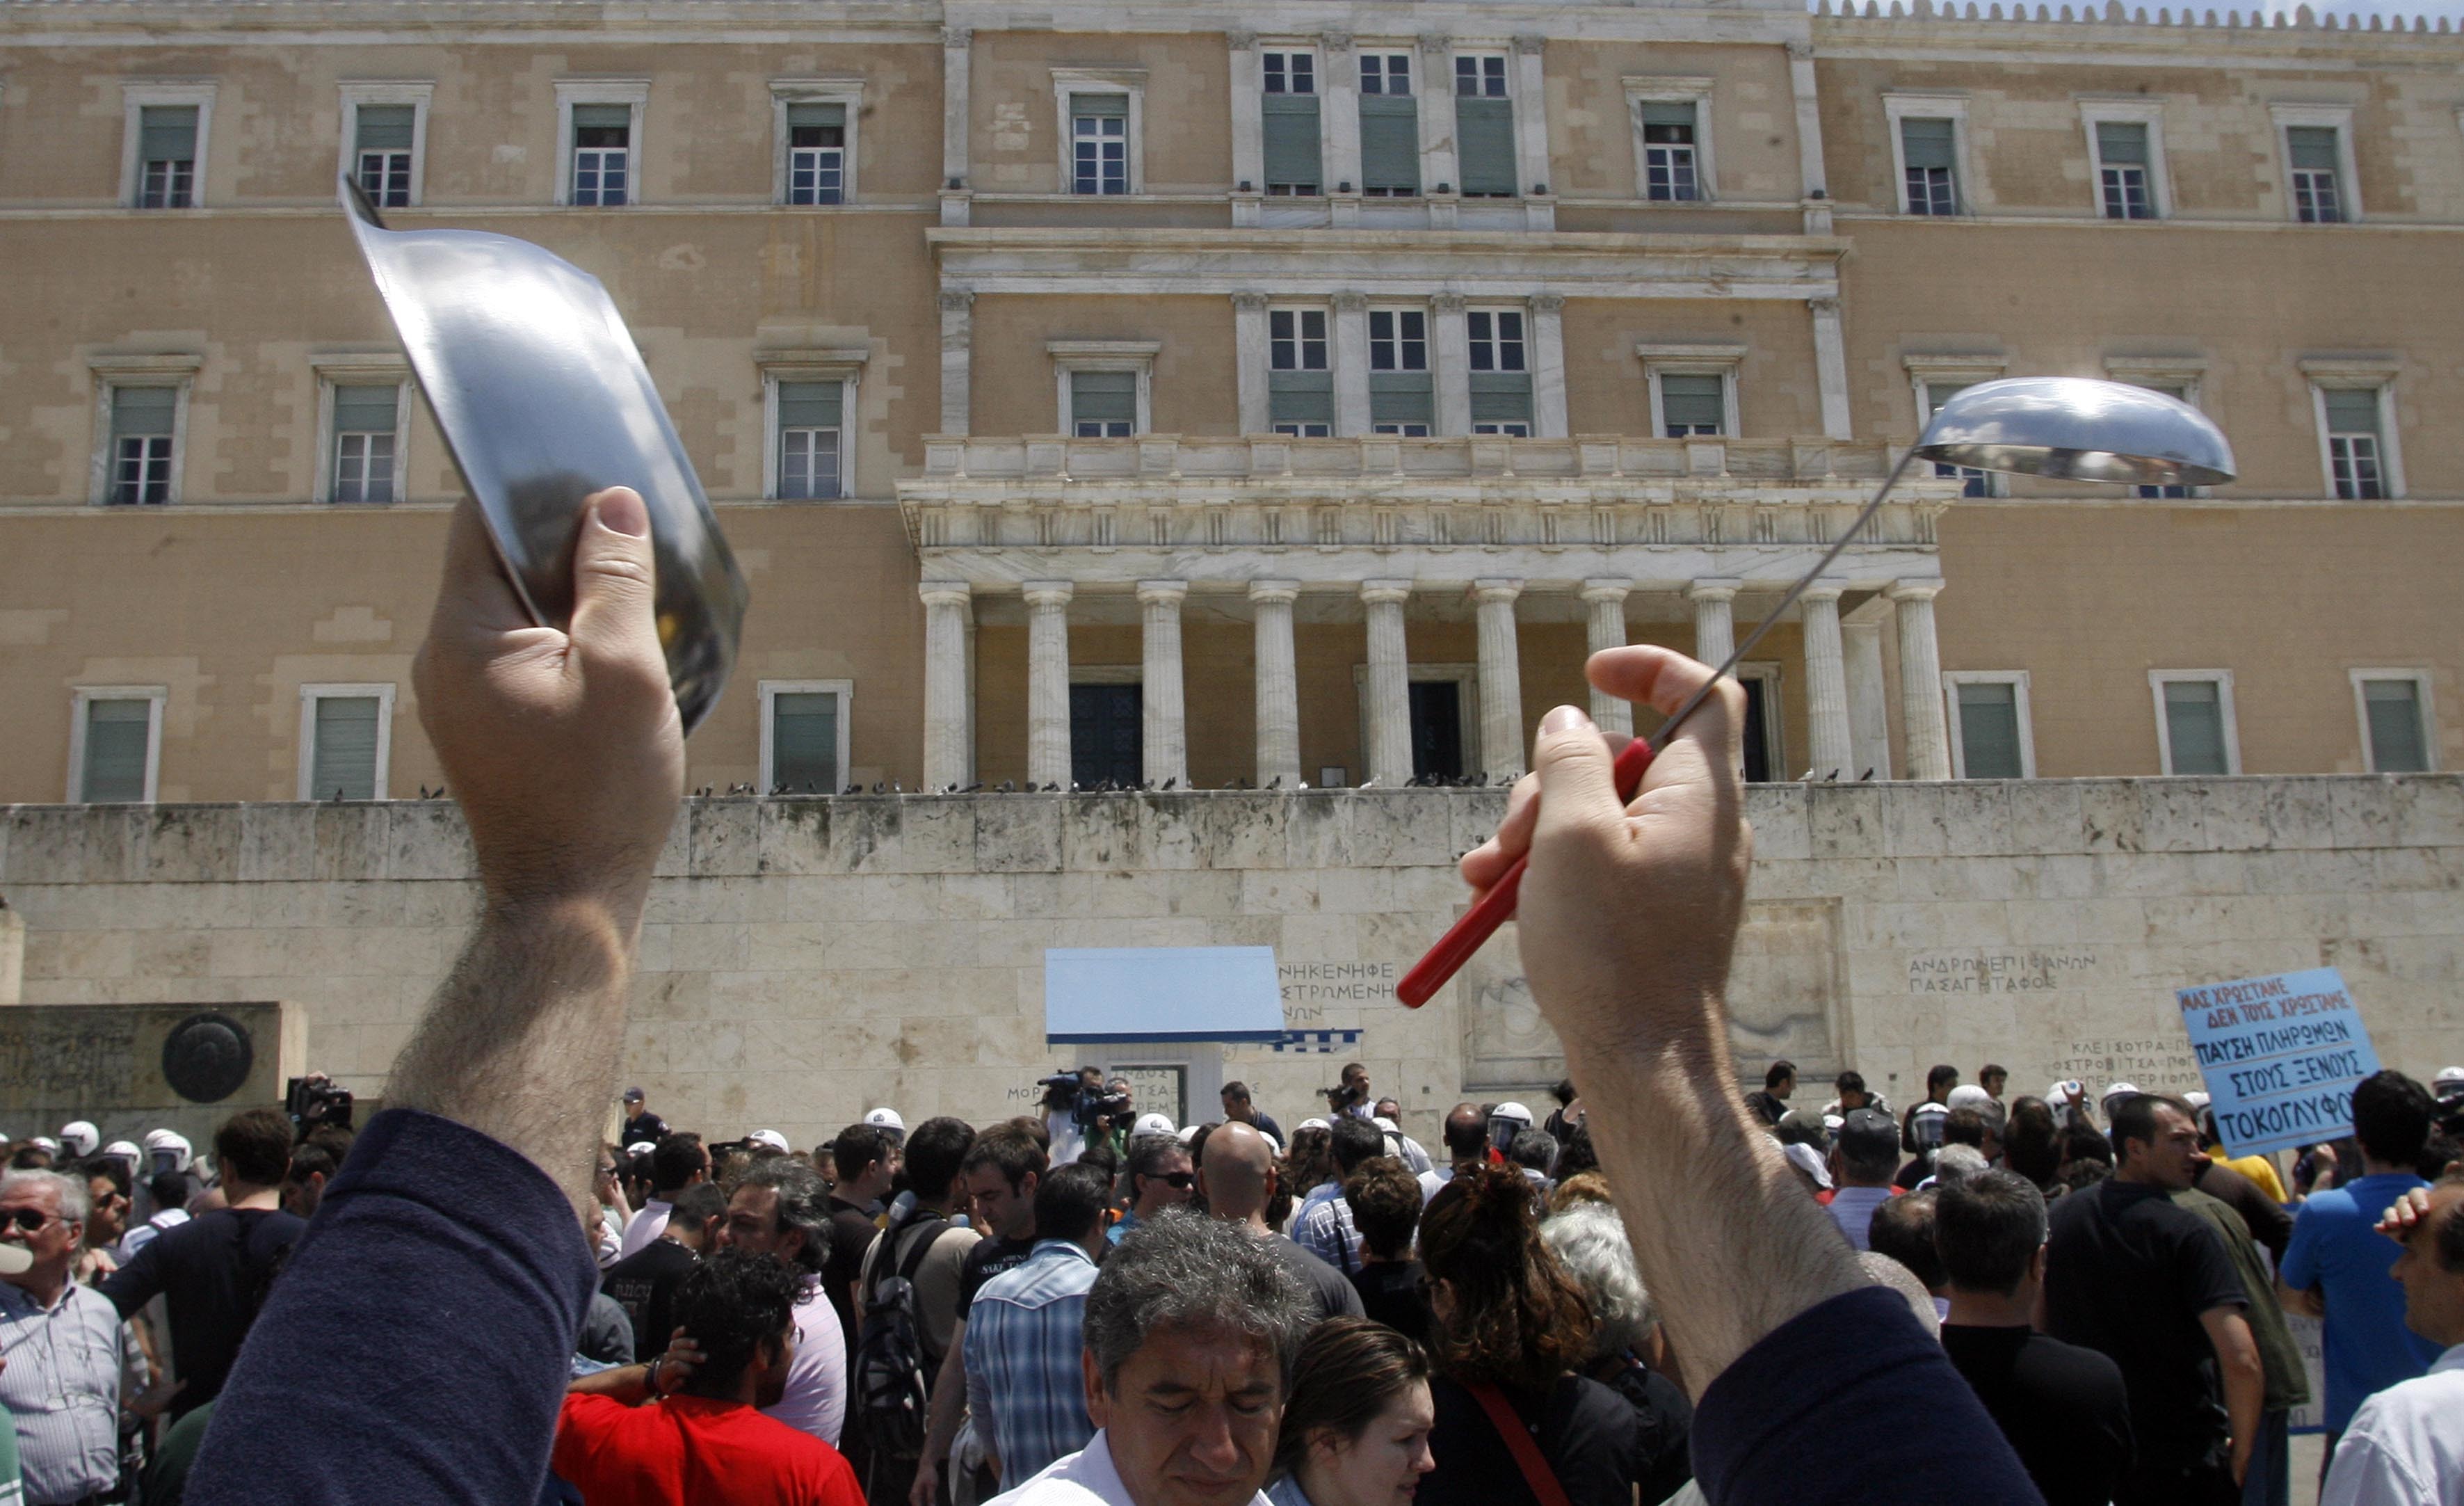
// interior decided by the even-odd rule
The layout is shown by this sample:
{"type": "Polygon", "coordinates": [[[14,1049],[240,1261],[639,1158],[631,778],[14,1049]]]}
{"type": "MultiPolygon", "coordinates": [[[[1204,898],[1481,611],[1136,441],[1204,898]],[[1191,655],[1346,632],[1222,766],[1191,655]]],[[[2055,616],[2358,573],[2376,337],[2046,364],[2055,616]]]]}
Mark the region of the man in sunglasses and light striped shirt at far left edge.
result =
{"type": "Polygon", "coordinates": [[[143,1385],[118,1309],[71,1279],[89,1213],[84,1178],[0,1178],[0,1405],[17,1427],[27,1506],[118,1489],[121,1398],[143,1385]]]}

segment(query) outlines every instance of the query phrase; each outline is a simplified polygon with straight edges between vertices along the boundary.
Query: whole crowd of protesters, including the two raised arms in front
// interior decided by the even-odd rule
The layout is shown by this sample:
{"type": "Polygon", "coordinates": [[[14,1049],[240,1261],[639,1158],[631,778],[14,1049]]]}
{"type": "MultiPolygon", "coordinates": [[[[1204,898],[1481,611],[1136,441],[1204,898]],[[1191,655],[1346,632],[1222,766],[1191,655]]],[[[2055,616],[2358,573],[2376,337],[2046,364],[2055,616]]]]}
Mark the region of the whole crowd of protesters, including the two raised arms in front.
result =
{"type": "Polygon", "coordinates": [[[1432,1156],[1350,1065],[1289,1136],[1244,1085],[1173,1124],[1094,1072],[808,1151],[665,1124],[616,1094],[683,789],[653,582],[599,493],[537,626],[456,515],[416,680],[473,934],[355,1136],[15,1149],[0,1501],[2282,1501],[2304,1311],[2326,1501],[2464,1506],[2464,1072],[2363,1080],[2289,1168],[2131,1085],[1740,1094],[1745,702],[1653,646],[1587,665],[1705,695],[1643,786],[1555,707],[1461,860],[1528,863],[1545,1119],[1466,1102],[1432,1156]]]}

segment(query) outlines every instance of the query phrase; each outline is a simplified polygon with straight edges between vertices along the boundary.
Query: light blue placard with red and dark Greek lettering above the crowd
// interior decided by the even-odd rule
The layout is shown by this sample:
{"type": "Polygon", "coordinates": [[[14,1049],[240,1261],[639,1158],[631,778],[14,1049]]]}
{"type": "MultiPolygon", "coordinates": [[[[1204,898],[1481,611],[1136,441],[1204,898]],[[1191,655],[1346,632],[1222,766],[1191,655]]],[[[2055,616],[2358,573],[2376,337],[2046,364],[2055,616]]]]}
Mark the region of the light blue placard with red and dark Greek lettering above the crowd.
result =
{"type": "Polygon", "coordinates": [[[2262,1156],[2353,1134],[2370,1030],[2331,966],[2178,988],[2225,1151],[2262,1156]]]}

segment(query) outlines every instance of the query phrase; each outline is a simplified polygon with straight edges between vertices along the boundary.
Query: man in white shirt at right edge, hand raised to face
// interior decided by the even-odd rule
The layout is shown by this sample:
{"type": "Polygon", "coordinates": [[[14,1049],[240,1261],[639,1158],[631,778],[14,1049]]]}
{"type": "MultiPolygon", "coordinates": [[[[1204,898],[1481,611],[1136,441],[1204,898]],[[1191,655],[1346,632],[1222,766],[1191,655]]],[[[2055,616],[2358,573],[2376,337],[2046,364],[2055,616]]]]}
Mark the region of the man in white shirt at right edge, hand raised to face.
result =
{"type": "Polygon", "coordinates": [[[2447,1351],[2417,1380],[2361,1402],[2319,1506],[2464,1506],[2464,1178],[2415,1188],[2378,1232],[2400,1240],[2405,1326],[2447,1351]]]}

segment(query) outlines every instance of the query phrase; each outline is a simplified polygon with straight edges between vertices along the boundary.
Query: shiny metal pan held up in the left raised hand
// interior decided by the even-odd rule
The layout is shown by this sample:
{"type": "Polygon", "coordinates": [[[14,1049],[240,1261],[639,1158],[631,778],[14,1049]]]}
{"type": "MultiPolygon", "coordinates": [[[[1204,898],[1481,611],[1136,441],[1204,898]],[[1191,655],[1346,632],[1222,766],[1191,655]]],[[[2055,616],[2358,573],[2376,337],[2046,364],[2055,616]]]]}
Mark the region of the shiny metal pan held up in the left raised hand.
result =
{"type": "Polygon", "coordinates": [[[513,237],[387,229],[350,175],[342,210],[535,621],[572,621],[582,500],[631,486],[648,503],[658,641],[692,732],[727,685],[749,592],[609,291],[513,237]]]}

